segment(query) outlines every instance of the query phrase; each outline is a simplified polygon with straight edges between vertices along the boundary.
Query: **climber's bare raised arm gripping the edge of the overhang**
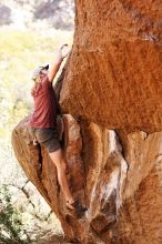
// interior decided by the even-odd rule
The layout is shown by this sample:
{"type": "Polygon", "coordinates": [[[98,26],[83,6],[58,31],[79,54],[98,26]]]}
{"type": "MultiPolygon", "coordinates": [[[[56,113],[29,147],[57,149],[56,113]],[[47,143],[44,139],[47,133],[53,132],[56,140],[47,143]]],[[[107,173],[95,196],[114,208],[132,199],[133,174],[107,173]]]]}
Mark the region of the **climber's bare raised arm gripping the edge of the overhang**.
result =
{"type": "Polygon", "coordinates": [[[62,60],[70,53],[71,49],[68,47],[68,44],[63,44],[61,45],[59,49],[55,50],[54,53],[54,60],[53,60],[53,64],[50,67],[49,73],[48,73],[48,78],[49,81],[52,82],[61,63],[62,60]]]}

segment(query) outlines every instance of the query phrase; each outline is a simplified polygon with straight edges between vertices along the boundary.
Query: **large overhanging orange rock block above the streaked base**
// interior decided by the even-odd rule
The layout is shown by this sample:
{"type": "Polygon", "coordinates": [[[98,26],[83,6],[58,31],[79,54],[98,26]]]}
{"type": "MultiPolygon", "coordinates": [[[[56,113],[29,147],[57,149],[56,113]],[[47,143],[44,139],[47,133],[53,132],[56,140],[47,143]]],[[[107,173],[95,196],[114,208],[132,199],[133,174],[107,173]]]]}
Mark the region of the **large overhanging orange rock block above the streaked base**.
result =
{"type": "Polygon", "coordinates": [[[77,1],[65,112],[109,129],[162,128],[162,3],[77,1]]]}

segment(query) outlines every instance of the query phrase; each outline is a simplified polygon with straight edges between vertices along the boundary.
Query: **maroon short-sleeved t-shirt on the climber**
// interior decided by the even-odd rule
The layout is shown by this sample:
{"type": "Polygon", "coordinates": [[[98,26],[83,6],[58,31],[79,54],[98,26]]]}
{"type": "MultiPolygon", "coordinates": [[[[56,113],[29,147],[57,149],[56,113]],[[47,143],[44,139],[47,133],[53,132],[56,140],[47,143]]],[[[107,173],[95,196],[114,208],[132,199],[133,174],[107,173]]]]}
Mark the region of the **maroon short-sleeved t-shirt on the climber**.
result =
{"type": "Polygon", "coordinates": [[[32,128],[54,128],[57,122],[57,96],[48,77],[32,92],[34,111],[28,122],[32,128]]]}

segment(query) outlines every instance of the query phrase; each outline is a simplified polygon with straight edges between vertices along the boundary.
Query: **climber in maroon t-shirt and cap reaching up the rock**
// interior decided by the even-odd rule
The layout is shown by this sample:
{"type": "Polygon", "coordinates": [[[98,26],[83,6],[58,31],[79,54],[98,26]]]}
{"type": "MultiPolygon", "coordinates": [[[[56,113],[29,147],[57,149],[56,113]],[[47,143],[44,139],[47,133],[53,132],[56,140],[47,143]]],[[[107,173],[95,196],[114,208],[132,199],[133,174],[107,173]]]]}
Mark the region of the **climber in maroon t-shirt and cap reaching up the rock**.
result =
{"type": "Polygon", "coordinates": [[[68,57],[71,49],[68,44],[61,45],[54,54],[53,64],[42,65],[36,69],[32,80],[34,85],[31,95],[34,101],[34,111],[28,122],[28,129],[37,141],[44,145],[57,167],[58,181],[65,197],[67,209],[83,214],[87,207],[74,200],[67,179],[67,161],[63,157],[57,131],[57,96],[52,87],[53,79],[61,65],[62,60],[68,57]]]}

